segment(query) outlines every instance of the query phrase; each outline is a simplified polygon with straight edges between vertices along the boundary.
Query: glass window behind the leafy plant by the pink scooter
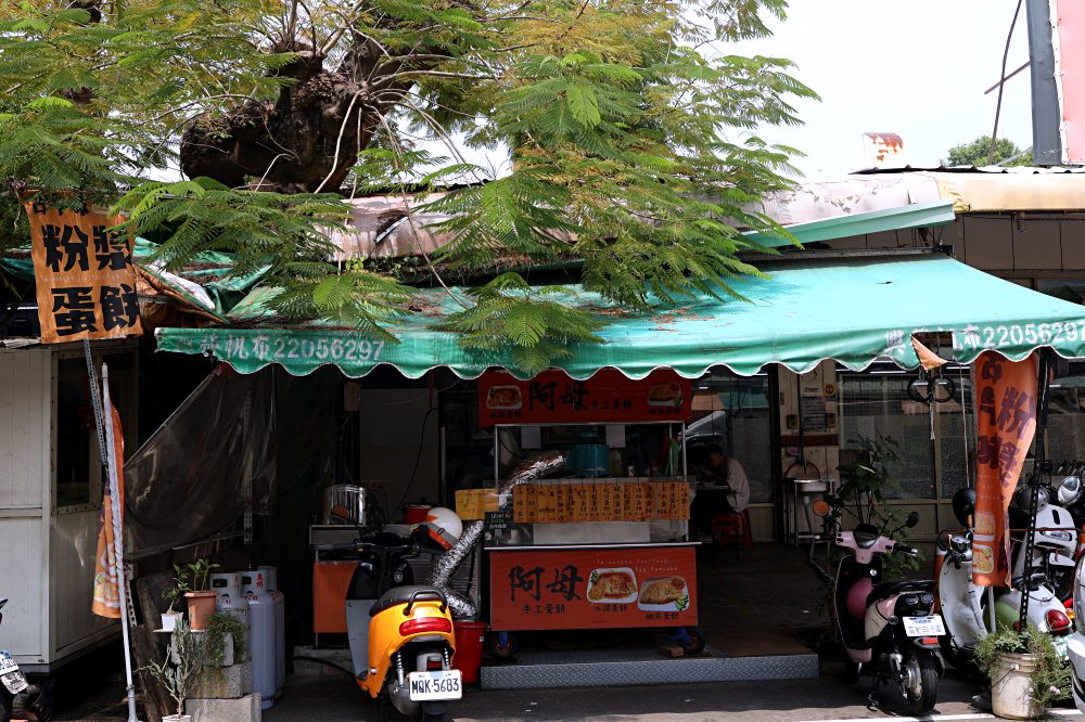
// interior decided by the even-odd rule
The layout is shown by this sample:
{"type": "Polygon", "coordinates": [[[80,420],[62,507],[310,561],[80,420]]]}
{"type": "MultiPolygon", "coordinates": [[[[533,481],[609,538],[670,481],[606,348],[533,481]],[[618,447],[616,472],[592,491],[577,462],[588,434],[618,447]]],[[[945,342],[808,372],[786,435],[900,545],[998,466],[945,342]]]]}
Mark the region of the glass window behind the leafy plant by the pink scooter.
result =
{"type": "Polygon", "coordinates": [[[857,450],[860,437],[892,437],[901,457],[890,465],[897,488],[886,497],[893,499],[934,499],[929,410],[908,398],[915,377],[895,370],[838,375],[841,456],[857,450]]]}

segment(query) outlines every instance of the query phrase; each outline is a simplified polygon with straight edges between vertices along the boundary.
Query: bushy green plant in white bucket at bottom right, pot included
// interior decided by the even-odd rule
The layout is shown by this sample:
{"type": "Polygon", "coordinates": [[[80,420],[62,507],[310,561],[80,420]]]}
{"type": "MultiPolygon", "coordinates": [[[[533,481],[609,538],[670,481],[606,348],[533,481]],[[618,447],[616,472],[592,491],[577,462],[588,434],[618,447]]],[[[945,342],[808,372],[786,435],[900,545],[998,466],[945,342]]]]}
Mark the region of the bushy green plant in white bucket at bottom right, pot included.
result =
{"type": "Polygon", "coordinates": [[[1035,627],[988,634],[975,647],[975,661],[991,680],[991,706],[998,717],[1038,719],[1052,702],[1070,697],[1070,670],[1050,635],[1035,627]]]}

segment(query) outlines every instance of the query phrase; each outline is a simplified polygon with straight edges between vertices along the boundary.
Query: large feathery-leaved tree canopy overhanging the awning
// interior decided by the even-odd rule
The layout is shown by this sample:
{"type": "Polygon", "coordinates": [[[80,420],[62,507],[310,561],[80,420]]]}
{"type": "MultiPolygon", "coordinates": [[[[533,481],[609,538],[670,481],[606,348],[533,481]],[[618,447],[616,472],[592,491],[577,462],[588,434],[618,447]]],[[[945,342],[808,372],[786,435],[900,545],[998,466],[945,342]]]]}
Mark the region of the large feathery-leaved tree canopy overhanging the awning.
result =
{"type": "MultiPolygon", "coordinates": [[[[815,98],[779,57],[710,49],[768,34],[784,0],[64,0],[0,7],[0,247],[20,194],[124,210],[180,267],[272,263],[285,317],[386,334],[411,292],[329,265],[343,196],[435,196],[441,269],[583,262],[634,309],[729,292],[756,270],[732,224],[788,188],[796,151],[756,129],[815,98]],[[441,141],[447,157],[420,143],[441,141]],[[464,149],[508,149],[490,177],[464,149]],[[173,169],[173,170],[170,170],[173,169]],[[177,177],[189,180],[163,182],[177,177]],[[463,181],[469,181],[463,183],[463,181]]],[[[408,217],[408,221],[411,218],[408,217]]],[[[462,343],[537,371],[598,321],[501,274],[458,299],[462,343]]]]}

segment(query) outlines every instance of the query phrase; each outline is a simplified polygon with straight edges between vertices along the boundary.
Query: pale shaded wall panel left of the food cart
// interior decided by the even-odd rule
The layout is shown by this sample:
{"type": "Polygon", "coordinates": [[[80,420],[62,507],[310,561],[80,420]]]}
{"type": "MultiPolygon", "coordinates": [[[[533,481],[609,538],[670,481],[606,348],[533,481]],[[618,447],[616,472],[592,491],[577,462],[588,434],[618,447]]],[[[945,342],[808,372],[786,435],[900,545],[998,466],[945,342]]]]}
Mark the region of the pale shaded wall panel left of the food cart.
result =
{"type": "MultiPolygon", "coordinates": [[[[441,462],[436,395],[434,411],[426,418],[429,409],[430,390],[424,388],[366,389],[361,392],[361,474],[358,480],[383,485],[387,504],[393,507],[388,513],[395,511],[406,491],[414,460],[419,456],[420,439],[421,457],[407,502],[425,497],[431,503],[437,503],[441,462]]],[[[384,499],[381,501],[383,503],[384,499]]]]}

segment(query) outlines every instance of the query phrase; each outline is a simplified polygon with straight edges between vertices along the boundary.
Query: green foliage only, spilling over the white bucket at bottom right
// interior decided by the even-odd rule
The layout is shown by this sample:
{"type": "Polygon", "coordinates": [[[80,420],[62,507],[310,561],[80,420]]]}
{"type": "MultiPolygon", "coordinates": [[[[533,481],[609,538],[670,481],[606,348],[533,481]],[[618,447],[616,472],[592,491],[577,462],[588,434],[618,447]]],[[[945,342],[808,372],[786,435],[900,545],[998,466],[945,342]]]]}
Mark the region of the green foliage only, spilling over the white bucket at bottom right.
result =
{"type": "Polygon", "coordinates": [[[1049,634],[1030,626],[1021,631],[1004,628],[983,637],[975,647],[975,662],[987,679],[1005,673],[999,660],[1004,654],[1035,657],[1036,670],[1031,675],[1033,700],[1042,713],[1054,702],[1070,698],[1070,668],[1059,659],[1049,634]]]}

